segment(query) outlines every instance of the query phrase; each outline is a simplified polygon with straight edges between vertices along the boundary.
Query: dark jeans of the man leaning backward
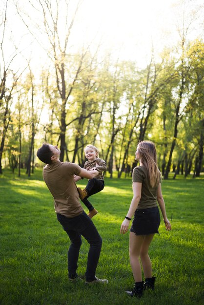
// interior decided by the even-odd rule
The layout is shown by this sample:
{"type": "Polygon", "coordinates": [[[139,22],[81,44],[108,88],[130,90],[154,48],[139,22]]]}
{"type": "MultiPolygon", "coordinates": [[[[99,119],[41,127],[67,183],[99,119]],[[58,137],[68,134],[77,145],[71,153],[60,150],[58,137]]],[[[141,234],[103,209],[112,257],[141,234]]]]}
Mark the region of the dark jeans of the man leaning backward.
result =
{"type": "Polygon", "coordinates": [[[67,218],[64,215],[57,213],[57,219],[61,223],[64,231],[68,234],[71,241],[71,245],[68,250],[69,278],[73,278],[77,274],[77,262],[83,236],[90,244],[85,273],[86,281],[91,282],[95,280],[95,272],[102,248],[102,238],[92,220],[84,211],[81,215],[73,218],[67,218]]]}

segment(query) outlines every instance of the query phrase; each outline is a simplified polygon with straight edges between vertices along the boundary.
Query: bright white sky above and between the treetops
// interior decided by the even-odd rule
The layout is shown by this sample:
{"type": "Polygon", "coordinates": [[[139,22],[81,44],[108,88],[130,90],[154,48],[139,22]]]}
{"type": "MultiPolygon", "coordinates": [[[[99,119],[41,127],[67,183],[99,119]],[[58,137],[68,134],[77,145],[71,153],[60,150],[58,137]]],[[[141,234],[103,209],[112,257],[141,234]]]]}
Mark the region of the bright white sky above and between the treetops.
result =
{"type": "MultiPolygon", "coordinates": [[[[16,1],[16,0],[15,0],[16,1]]],[[[23,10],[27,10],[28,0],[17,0],[23,10]]],[[[61,0],[63,1],[63,0],[61,0]]],[[[0,10],[6,0],[0,0],[0,10]]],[[[37,3],[38,0],[31,0],[37,3]]],[[[53,1],[54,2],[54,1],[53,1]]],[[[76,4],[78,0],[71,0],[76,4]]],[[[72,45],[77,49],[83,42],[102,41],[102,49],[111,48],[115,57],[136,60],[139,66],[148,63],[152,43],[155,53],[159,53],[164,46],[175,44],[178,40],[176,25],[181,23],[182,6],[178,7],[180,0],[83,0],[72,32],[72,45]]],[[[184,1],[183,1],[184,2],[184,1]]],[[[202,0],[188,0],[186,12],[196,10],[202,0]]],[[[39,66],[43,59],[43,52],[32,38],[24,35],[27,29],[19,17],[15,17],[13,1],[9,0],[9,27],[13,38],[20,46],[26,48],[24,54],[35,60],[39,66]]],[[[37,15],[31,11],[29,18],[35,20],[37,15]]],[[[60,12],[63,15],[63,11],[60,12]]],[[[191,37],[202,35],[202,12],[198,13],[198,20],[191,25],[191,37]]],[[[202,20],[203,21],[203,20],[202,20]]],[[[63,35],[63,27],[61,33],[63,35]]]]}

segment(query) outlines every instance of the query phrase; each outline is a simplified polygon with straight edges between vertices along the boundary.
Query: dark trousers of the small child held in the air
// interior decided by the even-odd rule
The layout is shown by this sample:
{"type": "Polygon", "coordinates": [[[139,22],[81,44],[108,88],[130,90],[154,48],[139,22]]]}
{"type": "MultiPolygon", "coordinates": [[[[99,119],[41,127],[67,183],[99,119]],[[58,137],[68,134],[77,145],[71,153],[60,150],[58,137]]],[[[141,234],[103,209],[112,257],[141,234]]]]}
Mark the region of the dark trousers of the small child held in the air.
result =
{"type": "Polygon", "coordinates": [[[92,211],[94,207],[92,204],[87,200],[88,197],[90,197],[93,194],[98,193],[99,191],[102,191],[104,189],[104,181],[99,180],[96,178],[90,179],[87,183],[87,186],[85,188],[88,192],[88,196],[86,196],[82,202],[84,205],[88,208],[89,211],[92,211]]]}

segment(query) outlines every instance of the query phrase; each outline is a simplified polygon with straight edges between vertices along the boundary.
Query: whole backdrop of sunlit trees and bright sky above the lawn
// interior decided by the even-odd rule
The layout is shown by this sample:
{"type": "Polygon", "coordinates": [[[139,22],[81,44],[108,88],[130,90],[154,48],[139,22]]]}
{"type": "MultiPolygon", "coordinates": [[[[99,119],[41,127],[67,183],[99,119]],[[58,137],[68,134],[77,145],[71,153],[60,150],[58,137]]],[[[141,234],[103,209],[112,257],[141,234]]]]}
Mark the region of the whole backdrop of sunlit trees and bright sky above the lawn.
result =
{"type": "Polygon", "coordinates": [[[106,174],[120,178],[149,139],[164,179],[200,176],[201,1],[2,0],[0,8],[0,173],[30,176],[46,141],[81,166],[84,147],[96,145],[106,174]]]}

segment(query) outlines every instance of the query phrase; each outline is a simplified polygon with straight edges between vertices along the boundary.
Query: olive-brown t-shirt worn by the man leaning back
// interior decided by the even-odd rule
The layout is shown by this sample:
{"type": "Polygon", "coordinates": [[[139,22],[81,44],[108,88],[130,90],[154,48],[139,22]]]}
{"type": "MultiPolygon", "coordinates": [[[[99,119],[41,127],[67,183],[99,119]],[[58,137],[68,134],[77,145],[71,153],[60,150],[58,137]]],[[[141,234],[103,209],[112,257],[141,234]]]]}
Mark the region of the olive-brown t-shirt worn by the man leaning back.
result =
{"type": "Polygon", "coordinates": [[[83,208],[74,180],[82,168],[70,162],[55,162],[43,168],[43,179],[54,198],[56,213],[68,218],[82,214],[83,208]]]}

